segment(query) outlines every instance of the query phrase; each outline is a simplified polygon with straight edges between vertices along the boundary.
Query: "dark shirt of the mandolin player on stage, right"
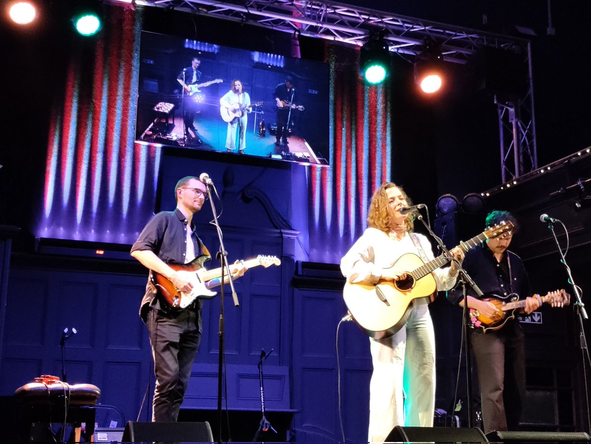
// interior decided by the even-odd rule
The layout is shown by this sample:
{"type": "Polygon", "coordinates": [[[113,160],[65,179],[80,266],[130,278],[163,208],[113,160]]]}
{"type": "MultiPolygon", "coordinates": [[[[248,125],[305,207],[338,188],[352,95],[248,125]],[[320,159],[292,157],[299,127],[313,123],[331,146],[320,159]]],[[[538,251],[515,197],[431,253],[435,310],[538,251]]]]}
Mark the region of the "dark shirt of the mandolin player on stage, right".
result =
{"type": "MultiPolygon", "coordinates": [[[[509,250],[505,250],[501,262],[498,262],[486,244],[477,245],[466,253],[462,267],[482,290],[483,297],[491,294],[509,297],[511,293],[517,294],[519,299],[531,296],[530,280],[523,262],[517,254],[509,250]]],[[[471,287],[468,286],[466,291],[468,296],[476,297],[471,287]]],[[[461,289],[447,294],[447,299],[454,304],[458,304],[462,297],[461,289]]]]}

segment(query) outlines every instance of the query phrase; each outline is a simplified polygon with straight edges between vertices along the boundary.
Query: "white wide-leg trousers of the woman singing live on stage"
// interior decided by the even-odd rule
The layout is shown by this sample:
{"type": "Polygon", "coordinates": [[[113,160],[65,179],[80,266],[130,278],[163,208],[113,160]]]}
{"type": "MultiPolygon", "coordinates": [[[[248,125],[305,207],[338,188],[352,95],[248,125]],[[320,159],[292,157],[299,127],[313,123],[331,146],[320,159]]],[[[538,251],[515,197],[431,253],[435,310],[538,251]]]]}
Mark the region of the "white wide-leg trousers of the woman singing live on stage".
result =
{"type": "Polygon", "coordinates": [[[382,443],[394,426],[433,427],[435,334],[428,306],[413,307],[405,325],[370,339],[369,442],[382,443]]]}

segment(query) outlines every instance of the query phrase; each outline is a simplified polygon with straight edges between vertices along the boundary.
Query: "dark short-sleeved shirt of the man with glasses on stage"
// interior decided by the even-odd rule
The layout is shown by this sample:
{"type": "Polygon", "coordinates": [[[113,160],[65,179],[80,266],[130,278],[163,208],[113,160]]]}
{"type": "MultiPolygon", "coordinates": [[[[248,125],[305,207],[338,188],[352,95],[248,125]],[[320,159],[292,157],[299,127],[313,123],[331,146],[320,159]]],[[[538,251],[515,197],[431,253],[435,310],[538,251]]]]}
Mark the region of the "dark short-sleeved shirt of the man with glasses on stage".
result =
{"type": "MultiPolygon", "coordinates": [[[[201,239],[195,232],[195,226],[191,223],[191,238],[195,248],[195,256],[203,254],[209,255],[207,249],[203,246],[201,239]]],[[[176,262],[184,264],[186,262],[187,251],[187,219],[178,208],[174,211],[162,211],[150,219],[150,222],[139,234],[138,240],[132,245],[131,251],[151,250],[164,262],[176,262]]],[[[139,307],[139,316],[145,322],[145,315],[148,308],[161,309],[158,298],[148,278],[146,293],[139,307]]],[[[202,301],[197,300],[197,309],[201,308],[202,301]]]]}

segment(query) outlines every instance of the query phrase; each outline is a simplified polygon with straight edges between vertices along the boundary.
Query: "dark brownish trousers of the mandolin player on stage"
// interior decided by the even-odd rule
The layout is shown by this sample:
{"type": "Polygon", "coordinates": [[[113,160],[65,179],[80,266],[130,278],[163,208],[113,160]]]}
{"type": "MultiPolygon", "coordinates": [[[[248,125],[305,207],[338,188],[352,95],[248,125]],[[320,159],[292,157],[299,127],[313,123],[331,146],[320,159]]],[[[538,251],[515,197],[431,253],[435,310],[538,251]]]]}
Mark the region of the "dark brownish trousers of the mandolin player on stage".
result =
{"type": "Polygon", "coordinates": [[[516,430],[525,397],[525,341],[516,320],[500,330],[472,331],[485,433],[516,430]]]}

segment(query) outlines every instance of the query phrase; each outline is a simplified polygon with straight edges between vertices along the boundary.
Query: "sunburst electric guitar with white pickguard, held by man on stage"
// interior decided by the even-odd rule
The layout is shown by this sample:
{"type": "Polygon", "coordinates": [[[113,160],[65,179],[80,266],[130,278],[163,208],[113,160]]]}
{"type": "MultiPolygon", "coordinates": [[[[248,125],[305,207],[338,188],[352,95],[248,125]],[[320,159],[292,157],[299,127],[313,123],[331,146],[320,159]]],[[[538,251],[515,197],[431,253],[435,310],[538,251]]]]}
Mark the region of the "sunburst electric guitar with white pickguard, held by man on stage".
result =
{"type": "MultiPolygon", "coordinates": [[[[203,263],[209,260],[209,256],[202,255],[195,258],[188,264],[168,264],[173,270],[180,273],[186,273],[189,277],[193,289],[190,293],[183,293],[179,291],[174,284],[160,273],[150,271],[150,282],[152,288],[160,297],[160,302],[163,302],[168,308],[172,310],[186,309],[196,299],[212,299],[216,296],[215,291],[207,289],[206,283],[212,279],[222,276],[222,268],[214,268],[213,270],[204,270],[203,263]]],[[[258,267],[262,265],[267,268],[270,265],[280,265],[281,261],[275,256],[258,255],[254,259],[243,261],[246,268],[258,267]]],[[[235,267],[230,264],[230,271],[234,271],[235,267]]]]}

